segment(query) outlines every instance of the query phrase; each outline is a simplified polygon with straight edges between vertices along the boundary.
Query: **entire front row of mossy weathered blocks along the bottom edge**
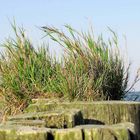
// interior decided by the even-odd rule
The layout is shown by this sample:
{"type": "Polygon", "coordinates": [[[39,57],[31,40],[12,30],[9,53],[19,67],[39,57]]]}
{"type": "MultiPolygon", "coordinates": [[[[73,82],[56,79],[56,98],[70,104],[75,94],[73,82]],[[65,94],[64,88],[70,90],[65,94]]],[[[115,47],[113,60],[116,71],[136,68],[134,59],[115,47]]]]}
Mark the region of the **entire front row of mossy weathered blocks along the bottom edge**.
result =
{"type": "Polygon", "coordinates": [[[82,125],[67,129],[1,125],[0,140],[135,140],[134,125],[82,125]]]}

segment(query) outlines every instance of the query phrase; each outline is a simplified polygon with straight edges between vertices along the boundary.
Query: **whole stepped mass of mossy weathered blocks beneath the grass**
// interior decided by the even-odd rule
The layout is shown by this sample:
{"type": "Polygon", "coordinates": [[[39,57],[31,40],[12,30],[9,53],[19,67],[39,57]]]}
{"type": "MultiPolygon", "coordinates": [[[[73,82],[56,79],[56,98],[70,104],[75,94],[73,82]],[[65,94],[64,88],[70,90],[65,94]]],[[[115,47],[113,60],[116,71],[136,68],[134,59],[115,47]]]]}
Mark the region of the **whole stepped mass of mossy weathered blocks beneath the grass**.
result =
{"type": "Polygon", "coordinates": [[[140,103],[35,99],[0,125],[0,140],[140,140],[140,103]]]}

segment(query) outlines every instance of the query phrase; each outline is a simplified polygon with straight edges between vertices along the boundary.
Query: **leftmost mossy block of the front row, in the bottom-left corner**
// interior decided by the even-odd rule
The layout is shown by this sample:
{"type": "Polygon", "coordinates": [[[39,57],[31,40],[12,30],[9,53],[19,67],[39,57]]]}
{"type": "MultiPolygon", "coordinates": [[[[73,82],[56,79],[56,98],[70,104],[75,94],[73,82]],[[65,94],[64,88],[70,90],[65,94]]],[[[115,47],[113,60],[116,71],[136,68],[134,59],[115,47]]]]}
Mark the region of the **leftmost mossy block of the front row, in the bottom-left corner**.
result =
{"type": "Polygon", "coordinates": [[[6,125],[0,127],[0,140],[49,140],[50,130],[36,127],[6,125]]]}

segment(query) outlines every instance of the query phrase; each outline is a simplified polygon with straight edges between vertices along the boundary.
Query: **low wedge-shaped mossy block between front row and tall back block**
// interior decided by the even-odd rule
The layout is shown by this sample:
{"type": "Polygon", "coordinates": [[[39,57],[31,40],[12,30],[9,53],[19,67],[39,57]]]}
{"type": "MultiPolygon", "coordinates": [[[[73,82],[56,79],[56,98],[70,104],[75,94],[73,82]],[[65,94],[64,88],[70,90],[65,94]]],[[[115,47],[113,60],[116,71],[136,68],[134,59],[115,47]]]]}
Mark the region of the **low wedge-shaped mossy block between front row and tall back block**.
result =
{"type": "Polygon", "coordinates": [[[42,126],[47,128],[72,128],[83,124],[80,110],[55,110],[46,112],[24,113],[9,117],[9,124],[42,126]]]}

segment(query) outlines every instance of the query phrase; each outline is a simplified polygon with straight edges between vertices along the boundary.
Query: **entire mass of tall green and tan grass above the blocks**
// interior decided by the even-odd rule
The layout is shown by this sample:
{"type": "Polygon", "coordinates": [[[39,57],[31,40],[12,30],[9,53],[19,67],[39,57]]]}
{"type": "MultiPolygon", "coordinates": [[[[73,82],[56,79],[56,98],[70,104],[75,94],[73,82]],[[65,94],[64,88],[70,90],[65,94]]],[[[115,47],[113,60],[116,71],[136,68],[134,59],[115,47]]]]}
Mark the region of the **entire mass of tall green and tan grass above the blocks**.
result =
{"type": "Polygon", "coordinates": [[[7,103],[6,113],[16,114],[38,97],[93,101],[120,100],[125,95],[129,65],[125,67],[113,31],[112,40],[106,43],[101,36],[95,40],[92,29],[78,32],[67,25],[68,33],[64,33],[42,27],[65,49],[58,62],[46,45],[33,47],[22,28],[12,27],[15,38],[5,41],[0,57],[0,90],[7,103]]]}

